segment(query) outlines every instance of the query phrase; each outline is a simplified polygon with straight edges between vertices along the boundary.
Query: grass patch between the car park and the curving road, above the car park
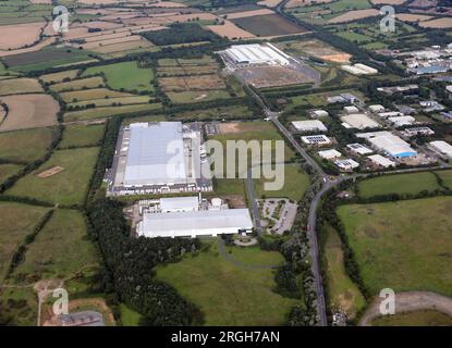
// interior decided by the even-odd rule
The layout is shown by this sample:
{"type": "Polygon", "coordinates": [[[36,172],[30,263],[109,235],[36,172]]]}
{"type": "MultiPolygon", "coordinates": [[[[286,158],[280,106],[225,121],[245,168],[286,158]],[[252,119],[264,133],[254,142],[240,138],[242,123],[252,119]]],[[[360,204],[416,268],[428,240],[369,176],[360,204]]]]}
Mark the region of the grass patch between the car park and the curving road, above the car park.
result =
{"type": "MultiPolygon", "coordinates": [[[[309,186],[309,175],[307,175],[300,165],[285,164],[284,165],[284,186],[277,191],[265,190],[265,179],[255,179],[254,189],[256,197],[268,198],[289,198],[298,201],[303,198],[306,189],[309,186]]],[[[273,181],[268,181],[272,183],[273,181]]]]}

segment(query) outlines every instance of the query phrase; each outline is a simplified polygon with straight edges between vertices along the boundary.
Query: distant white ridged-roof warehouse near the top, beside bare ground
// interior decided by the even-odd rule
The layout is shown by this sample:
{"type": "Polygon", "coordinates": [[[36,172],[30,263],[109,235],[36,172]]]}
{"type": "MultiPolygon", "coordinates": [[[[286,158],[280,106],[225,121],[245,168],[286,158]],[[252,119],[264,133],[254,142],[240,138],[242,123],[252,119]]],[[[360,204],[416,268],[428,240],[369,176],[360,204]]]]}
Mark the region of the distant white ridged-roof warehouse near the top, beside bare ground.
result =
{"type": "Polygon", "coordinates": [[[290,57],[271,44],[233,45],[224,53],[236,65],[290,64],[290,57]]]}

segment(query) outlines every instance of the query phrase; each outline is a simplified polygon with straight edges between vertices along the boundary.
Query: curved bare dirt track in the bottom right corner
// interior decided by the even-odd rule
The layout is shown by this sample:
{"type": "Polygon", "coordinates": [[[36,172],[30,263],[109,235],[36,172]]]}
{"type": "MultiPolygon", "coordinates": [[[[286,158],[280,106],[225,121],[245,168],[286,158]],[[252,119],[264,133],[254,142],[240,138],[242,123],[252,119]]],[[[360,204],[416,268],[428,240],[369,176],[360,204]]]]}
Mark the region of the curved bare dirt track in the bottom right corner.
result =
{"type": "MultiPolygon", "coordinates": [[[[359,326],[371,326],[372,320],[380,316],[380,298],[374,300],[359,320],[359,326]]],[[[437,310],[452,316],[452,298],[429,291],[399,293],[395,295],[396,313],[417,310],[437,310]]]]}

